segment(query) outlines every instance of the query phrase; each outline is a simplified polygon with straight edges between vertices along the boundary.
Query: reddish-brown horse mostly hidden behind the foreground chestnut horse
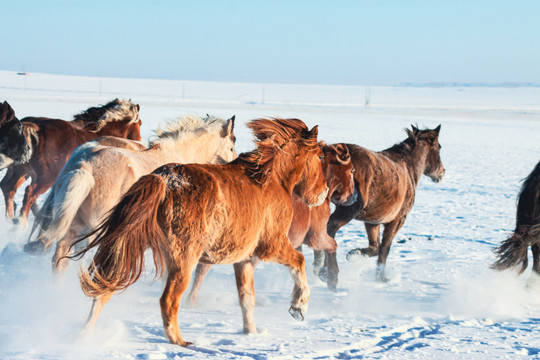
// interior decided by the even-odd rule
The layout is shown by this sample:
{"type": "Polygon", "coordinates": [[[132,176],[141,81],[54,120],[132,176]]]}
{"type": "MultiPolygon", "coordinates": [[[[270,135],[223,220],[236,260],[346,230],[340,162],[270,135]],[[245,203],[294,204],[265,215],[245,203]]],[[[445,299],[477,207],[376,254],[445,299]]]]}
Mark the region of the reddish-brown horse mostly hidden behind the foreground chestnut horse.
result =
{"type": "MultiPolygon", "coordinates": [[[[302,244],[305,244],[314,250],[335,252],[336,240],[326,232],[331,213],[330,202],[347,206],[356,201],[357,193],[352,176],[354,168],[347,147],[339,144],[327,145],[324,142],[320,142],[319,146],[323,152],[322,169],[329,189],[328,196],[321,205],[309,207],[293,191],[293,218],[287,235],[292,246],[298,251],[302,251],[302,244]]],[[[254,262],[253,267],[256,265],[254,262]]],[[[211,267],[210,264],[197,264],[188,295],[188,306],[194,307],[197,304],[202,282],[211,267]]],[[[332,275],[337,276],[337,273],[332,275]]]]}

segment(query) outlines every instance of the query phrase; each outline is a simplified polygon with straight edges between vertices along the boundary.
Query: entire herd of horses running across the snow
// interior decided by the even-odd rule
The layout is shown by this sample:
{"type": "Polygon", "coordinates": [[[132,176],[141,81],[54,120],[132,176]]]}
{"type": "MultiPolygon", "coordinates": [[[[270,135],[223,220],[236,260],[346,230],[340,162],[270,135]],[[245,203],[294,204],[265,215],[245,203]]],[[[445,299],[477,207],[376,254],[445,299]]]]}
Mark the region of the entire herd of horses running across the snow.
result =
{"type": "MultiPolygon", "coordinates": [[[[303,320],[310,290],[302,244],[314,250],[313,271],[336,290],[334,237],[360,220],[369,246],[349,255],[377,256],[377,279],[386,281],[392,240],[413,206],[422,174],[439,182],[445,172],[440,125],[412,126],[404,141],[373,152],[319,141],[317,126],[310,130],[298,119],[256,119],[247,123],[255,149],[237,155],[234,124],[234,116],[188,116],[157,129],[146,146],[140,142],[139,105],[131,101],[115,99],[71,121],[19,121],[7,102],[0,104],[6,215],[24,223],[30,210],[35,214],[24,250],[40,254],[56,243],[52,265],[59,273],[69,259],[95,251],[90,267],[80,272],[81,287],[93,298],[83,333],[92,331],[115,292],[139,279],[148,248],[156,274],[167,278],[160,306],[173,344],[190,344],[177,316],[192,273],[188,303],[195,305],[214,264],[234,266],[245,333],[257,331],[253,274],[259,260],[290,269],[289,313],[303,320]],[[15,217],[15,193],[28,177],[32,181],[15,217]],[[36,199],[48,189],[38,209],[36,199]]],[[[540,272],[539,197],[540,165],[524,184],[515,234],[497,249],[494,267],[521,265],[523,271],[531,246],[534,270],[540,272]]]]}

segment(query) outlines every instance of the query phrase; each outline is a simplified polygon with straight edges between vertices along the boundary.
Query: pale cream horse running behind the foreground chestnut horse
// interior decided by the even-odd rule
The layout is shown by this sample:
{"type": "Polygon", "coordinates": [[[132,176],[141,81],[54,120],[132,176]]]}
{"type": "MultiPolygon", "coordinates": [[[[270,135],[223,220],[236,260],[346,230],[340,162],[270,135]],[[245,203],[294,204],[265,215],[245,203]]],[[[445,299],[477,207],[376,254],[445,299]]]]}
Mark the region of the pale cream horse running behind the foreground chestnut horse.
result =
{"type": "Polygon", "coordinates": [[[144,149],[138,142],[113,137],[82,145],[56,179],[34,222],[39,235],[24,250],[41,253],[58,240],[52,265],[54,271],[64,272],[75,237],[99,225],[141,176],[171,162],[221,164],[236,158],[234,120],[185,116],[164,130],[158,128],[157,138],[144,149]],[[133,146],[139,148],[129,148],[133,146]]]}

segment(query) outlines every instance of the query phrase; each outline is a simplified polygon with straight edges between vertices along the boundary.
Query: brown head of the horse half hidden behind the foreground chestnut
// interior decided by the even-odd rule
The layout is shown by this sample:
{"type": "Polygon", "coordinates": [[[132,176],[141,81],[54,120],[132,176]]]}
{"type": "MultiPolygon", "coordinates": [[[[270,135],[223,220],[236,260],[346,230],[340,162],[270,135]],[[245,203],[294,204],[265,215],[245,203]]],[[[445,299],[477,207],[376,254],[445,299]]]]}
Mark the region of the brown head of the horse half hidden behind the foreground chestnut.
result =
{"type": "Polygon", "coordinates": [[[327,145],[324,142],[320,142],[319,146],[324,155],[322,166],[331,201],[344,206],[352,205],[358,199],[358,194],[354,186],[354,167],[349,149],[343,144],[327,145]]]}

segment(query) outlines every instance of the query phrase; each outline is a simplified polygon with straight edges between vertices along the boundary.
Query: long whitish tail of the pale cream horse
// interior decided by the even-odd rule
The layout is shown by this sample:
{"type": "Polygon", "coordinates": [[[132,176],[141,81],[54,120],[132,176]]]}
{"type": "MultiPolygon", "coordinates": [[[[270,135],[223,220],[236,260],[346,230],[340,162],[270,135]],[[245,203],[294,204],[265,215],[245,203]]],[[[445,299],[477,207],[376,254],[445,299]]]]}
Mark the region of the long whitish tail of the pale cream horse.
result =
{"type": "Polygon", "coordinates": [[[95,184],[92,173],[85,169],[72,170],[61,175],[59,180],[62,184],[58,190],[49,193],[42,212],[36,218],[32,233],[38,226],[40,232],[37,239],[25,247],[30,249],[30,252],[37,251],[38,248],[45,251],[55,239],[61,239],[66,235],[75,215],[95,184]]]}

